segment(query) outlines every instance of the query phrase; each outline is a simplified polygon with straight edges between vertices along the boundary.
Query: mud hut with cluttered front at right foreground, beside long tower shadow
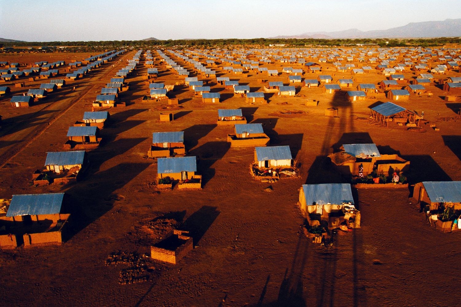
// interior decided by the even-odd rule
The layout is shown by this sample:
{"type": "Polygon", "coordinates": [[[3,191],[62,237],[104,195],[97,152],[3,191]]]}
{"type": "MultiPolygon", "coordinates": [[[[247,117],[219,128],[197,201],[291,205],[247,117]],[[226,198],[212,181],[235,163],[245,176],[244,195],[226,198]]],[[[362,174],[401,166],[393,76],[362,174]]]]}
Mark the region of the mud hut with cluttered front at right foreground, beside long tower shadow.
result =
{"type": "Polygon", "coordinates": [[[299,204],[310,226],[327,221],[329,229],[337,228],[341,223],[360,227],[360,212],[355,210],[350,184],[302,185],[299,204]]]}

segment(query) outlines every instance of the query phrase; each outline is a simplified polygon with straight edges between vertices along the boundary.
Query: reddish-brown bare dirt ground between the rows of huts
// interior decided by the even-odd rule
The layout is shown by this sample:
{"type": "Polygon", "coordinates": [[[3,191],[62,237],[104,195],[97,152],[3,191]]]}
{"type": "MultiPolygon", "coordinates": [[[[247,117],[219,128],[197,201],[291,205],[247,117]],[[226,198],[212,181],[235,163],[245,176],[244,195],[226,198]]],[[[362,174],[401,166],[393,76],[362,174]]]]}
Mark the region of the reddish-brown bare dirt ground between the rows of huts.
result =
{"type": "MultiPolygon", "coordinates": [[[[10,96],[1,98],[0,198],[65,191],[71,196],[72,229],[61,246],[0,251],[0,305],[449,306],[459,301],[461,232],[443,233],[429,226],[407,188],[354,190],[361,228],[339,232],[329,249],[303,235],[297,206],[302,184],[345,182],[327,158],[342,144],[375,143],[382,154],[400,154],[411,161],[410,183],[461,180],[461,117],[454,111],[459,103],[445,102],[445,93],[434,83],[426,87],[433,96],[412,94],[408,101],[397,102],[409,110],[424,111],[421,129],[386,128],[370,122],[369,106],[388,101],[380,93],[375,99],[349,103],[343,93],[302,88],[297,97],[272,96],[269,104],[246,104],[244,98],[233,97],[231,90],[212,80],[212,92],[220,91],[222,103],[202,104],[188,87],[176,86],[173,94],[180,104],[171,109],[175,120],[165,123],[159,114],[168,110],[167,104],[142,102],[148,95],[142,59],[126,79],[130,90],[120,96],[127,106],[109,110],[112,124],[101,130],[100,147],[89,152],[83,180],[62,186],[31,185],[31,174],[43,167],[46,153],[62,150],[68,127],[91,110],[100,88],[135,52],[124,53],[119,57],[122,62],[112,61],[30,108],[13,108],[10,96]],[[319,105],[307,107],[306,99],[319,100],[319,105]],[[330,107],[338,108],[337,117],[324,115],[330,107]],[[280,180],[272,184],[272,192],[265,191],[268,185],[248,173],[254,148],[230,148],[226,136],[233,127],[217,126],[220,108],[242,108],[248,122],[263,124],[271,145],[290,145],[301,163],[300,178],[280,180]],[[284,110],[305,113],[269,115],[284,110]],[[200,158],[203,190],[157,191],[150,184],[157,164],[146,156],[152,133],[157,131],[184,131],[189,155],[200,158]],[[142,227],[155,218],[176,220],[177,227],[194,238],[195,249],[176,266],[152,261],[147,282],[118,284],[120,270],[126,266],[106,266],[107,256],[118,250],[149,253],[150,238],[142,227]]],[[[164,52],[194,71],[189,63],[164,52]]],[[[17,55],[1,55],[0,60],[70,62],[85,57],[74,55],[68,60],[31,54],[23,56],[24,62],[17,55]]],[[[287,74],[268,78],[250,73],[243,78],[224,74],[223,66],[227,65],[213,70],[231,80],[240,79],[252,92],[262,90],[259,79],[288,83],[287,74]]],[[[264,66],[281,71],[292,65],[264,66]]],[[[335,72],[330,64],[322,66],[321,74],[331,74],[334,81],[351,77],[335,72]]],[[[170,85],[181,80],[158,60],[155,67],[160,82],[170,85]]],[[[413,72],[404,75],[414,76],[413,72]]],[[[450,75],[460,74],[441,77],[450,75]]],[[[385,79],[378,72],[354,78],[354,89],[358,83],[377,84],[385,79]]],[[[12,87],[12,92],[22,94],[39,83],[26,81],[26,87],[12,87]]]]}

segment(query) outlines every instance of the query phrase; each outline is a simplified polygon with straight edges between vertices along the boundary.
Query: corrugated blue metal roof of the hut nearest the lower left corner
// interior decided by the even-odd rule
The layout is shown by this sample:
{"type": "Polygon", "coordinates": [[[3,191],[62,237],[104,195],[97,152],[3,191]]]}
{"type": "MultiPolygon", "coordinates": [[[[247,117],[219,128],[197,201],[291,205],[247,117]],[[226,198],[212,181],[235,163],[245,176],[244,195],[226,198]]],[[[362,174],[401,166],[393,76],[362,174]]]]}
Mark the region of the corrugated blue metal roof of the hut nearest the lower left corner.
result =
{"type": "Polygon", "coordinates": [[[63,198],[64,193],[13,195],[6,216],[57,214],[63,198]]]}

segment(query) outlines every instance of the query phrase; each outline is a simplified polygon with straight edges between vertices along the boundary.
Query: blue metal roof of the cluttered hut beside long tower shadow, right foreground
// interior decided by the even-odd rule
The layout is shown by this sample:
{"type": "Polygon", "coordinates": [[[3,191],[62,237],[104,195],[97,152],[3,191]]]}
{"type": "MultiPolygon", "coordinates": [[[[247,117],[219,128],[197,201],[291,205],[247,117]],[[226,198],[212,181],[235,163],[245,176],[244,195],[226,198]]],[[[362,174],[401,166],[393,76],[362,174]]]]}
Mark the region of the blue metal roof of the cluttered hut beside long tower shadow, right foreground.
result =
{"type": "Polygon", "coordinates": [[[307,206],[327,203],[341,205],[343,203],[354,204],[350,184],[348,183],[327,183],[320,185],[302,185],[302,191],[307,206]]]}

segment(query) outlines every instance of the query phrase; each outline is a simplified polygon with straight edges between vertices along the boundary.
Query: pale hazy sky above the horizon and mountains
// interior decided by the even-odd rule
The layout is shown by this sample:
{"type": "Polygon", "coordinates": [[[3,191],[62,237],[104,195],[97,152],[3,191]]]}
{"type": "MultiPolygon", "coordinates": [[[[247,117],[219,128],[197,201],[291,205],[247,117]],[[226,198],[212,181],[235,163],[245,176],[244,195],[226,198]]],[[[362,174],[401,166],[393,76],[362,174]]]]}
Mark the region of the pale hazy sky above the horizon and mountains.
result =
{"type": "Polygon", "coordinates": [[[121,41],[258,38],[461,17],[461,0],[0,0],[0,37],[121,41]]]}

